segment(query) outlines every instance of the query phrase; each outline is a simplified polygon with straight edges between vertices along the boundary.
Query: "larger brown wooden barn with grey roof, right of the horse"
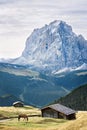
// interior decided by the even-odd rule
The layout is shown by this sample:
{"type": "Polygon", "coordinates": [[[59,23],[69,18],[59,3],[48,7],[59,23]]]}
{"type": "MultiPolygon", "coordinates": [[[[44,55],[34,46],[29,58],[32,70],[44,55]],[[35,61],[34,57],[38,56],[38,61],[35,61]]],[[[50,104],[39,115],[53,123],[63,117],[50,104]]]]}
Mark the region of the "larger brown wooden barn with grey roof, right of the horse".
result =
{"type": "Polygon", "coordinates": [[[76,111],[61,104],[53,104],[41,109],[42,117],[76,119],[76,111]]]}

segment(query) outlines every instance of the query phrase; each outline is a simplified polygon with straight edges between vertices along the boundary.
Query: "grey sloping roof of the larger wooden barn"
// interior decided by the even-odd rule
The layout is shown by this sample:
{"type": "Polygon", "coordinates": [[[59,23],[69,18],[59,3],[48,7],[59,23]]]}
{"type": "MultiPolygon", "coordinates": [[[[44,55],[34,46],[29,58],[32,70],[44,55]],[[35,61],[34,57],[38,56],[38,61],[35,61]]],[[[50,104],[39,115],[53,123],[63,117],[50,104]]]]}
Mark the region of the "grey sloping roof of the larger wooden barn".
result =
{"type": "Polygon", "coordinates": [[[66,106],[63,106],[63,105],[61,105],[61,104],[49,105],[49,106],[47,106],[47,107],[42,108],[42,110],[43,110],[43,109],[46,109],[46,108],[52,108],[52,109],[54,109],[54,110],[56,110],[56,111],[58,111],[58,112],[61,112],[61,113],[65,114],[65,115],[70,115],[70,114],[76,113],[75,110],[72,110],[71,108],[68,108],[68,107],[66,107],[66,106]]]}

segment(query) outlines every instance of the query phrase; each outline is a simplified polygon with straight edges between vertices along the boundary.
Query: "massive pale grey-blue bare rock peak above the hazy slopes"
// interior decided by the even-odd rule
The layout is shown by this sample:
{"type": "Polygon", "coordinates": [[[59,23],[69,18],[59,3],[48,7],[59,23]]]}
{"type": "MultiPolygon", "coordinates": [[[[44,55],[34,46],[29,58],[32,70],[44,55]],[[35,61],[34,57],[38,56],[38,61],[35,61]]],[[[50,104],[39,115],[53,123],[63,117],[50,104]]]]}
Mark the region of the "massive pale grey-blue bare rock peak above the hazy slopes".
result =
{"type": "Polygon", "coordinates": [[[87,69],[87,41],[77,36],[63,21],[54,21],[35,29],[27,38],[25,49],[12,64],[31,65],[38,70],[56,72],[64,68],[87,69]]]}

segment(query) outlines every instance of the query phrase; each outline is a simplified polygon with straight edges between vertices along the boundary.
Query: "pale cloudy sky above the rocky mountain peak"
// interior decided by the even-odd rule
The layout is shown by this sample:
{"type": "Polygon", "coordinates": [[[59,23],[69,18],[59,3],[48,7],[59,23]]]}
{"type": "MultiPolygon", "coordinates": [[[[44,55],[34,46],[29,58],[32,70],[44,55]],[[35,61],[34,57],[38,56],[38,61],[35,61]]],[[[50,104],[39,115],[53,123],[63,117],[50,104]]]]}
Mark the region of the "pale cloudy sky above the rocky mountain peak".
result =
{"type": "Polygon", "coordinates": [[[0,58],[21,56],[33,30],[54,20],[87,39],[87,0],[0,0],[0,58]]]}

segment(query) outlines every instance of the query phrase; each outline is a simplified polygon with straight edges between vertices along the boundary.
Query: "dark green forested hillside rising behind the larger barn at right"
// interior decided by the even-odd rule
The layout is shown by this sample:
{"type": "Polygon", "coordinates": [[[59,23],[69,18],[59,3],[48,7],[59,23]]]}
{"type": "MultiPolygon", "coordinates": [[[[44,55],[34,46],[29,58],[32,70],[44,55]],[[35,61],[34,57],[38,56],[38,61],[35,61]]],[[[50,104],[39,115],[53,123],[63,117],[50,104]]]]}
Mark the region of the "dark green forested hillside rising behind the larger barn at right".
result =
{"type": "Polygon", "coordinates": [[[75,110],[87,111],[87,84],[74,89],[67,96],[56,101],[75,110]]]}

